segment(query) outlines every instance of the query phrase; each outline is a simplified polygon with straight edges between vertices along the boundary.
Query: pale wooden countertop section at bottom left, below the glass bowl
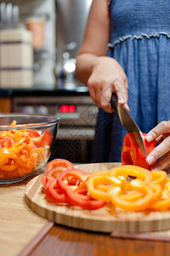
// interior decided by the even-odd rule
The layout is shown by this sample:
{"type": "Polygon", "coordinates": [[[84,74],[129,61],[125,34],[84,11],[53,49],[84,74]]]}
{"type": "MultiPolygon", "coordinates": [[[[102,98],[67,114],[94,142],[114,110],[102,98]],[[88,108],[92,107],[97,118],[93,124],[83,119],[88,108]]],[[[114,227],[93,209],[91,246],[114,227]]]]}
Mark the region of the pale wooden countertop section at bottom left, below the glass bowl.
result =
{"type": "Polygon", "coordinates": [[[29,179],[0,185],[0,255],[17,255],[48,223],[26,206],[24,196],[28,182],[29,179]]]}

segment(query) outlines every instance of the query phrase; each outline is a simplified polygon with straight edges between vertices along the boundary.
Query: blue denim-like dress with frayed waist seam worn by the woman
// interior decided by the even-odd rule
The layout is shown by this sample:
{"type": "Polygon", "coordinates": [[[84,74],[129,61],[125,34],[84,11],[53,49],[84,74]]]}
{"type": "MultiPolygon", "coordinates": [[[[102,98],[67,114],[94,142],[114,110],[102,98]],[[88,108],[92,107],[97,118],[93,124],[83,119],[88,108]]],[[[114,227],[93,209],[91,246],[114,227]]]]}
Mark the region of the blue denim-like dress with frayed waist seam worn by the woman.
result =
{"type": "MultiPolygon", "coordinates": [[[[130,114],[142,132],[170,119],[170,2],[111,0],[108,55],[128,79],[130,114]]],[[[92,162],[120,161],[127,132],[118,115],[99,109],[92,162]]]]}

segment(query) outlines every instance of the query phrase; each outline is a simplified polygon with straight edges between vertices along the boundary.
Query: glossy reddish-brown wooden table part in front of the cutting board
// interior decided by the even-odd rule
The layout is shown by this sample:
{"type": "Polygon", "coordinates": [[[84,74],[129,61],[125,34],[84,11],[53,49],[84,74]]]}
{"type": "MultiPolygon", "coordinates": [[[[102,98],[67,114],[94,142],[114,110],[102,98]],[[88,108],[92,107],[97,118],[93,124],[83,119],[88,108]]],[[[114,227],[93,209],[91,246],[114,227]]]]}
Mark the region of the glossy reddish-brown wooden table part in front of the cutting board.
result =
{"type": "Polygon", "coordinates": [[[29,256],[164,256],[170,242],[111,238],[108,234],[73,230],[54,225],[29,256]]]}

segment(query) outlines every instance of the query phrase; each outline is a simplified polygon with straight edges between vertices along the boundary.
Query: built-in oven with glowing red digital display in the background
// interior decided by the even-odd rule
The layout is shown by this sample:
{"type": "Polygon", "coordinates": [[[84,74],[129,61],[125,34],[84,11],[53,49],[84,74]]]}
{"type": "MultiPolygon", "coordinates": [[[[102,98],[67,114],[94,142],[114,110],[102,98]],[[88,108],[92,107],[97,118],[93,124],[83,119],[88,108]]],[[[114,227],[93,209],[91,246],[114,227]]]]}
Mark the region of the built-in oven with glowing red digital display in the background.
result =
{"type": "Polygon", "coordinates": [[[98,107],[88,93],[14,96],[13,112],[48,113],[59,117],[59,131],[49,160],[90,162],[98,107]]]}

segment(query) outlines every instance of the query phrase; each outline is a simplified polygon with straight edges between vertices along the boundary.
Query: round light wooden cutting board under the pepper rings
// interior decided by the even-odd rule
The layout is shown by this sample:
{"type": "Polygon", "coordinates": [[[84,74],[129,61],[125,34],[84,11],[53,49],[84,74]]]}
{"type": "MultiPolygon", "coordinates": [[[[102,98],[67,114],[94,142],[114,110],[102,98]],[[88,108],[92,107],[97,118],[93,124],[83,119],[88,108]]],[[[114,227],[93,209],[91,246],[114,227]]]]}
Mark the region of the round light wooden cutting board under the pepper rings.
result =
{"type": "MultiPolygon", "coordinates": [[[[86,172],[109,170],[120,163],[97,163],[75,166],[86,172]]],[[[82,230],[109,232],[150,232],[170,229],[170,211],[125,212],[114,207],[83,210],[49,201],[43,193],[42,175],[34,177],[26,186],[26,204],[33,212],[57,224],[82,230]]]]}

